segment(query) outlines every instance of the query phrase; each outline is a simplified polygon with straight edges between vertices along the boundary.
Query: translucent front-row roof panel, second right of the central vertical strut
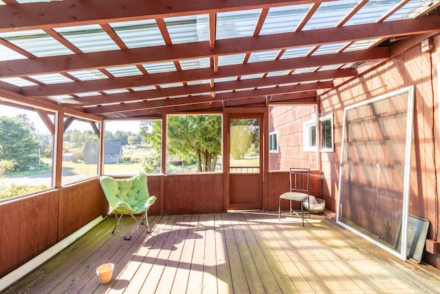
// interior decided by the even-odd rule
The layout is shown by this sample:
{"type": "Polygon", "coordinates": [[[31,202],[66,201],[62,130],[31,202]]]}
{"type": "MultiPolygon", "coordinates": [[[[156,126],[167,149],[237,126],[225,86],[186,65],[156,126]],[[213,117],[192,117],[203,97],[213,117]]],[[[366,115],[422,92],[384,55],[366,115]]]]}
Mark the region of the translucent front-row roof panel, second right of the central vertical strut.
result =
{"type": "Polygon", "coordinates": [[[267,13],[260,34],[294,32],[311,4],[272,7],[267,13]]]}

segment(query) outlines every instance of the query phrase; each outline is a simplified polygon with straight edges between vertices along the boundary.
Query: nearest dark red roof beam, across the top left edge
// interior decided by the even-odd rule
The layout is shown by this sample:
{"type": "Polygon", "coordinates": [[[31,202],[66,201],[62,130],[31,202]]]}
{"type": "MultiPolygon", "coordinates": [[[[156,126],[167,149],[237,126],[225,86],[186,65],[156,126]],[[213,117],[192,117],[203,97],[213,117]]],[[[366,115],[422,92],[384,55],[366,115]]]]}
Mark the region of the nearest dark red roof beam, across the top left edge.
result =
{"type": "MultiPolygon", "coordinates": [[[[325,2],[330,0],[319,0],[325,2]]],[[[255,8],[314,3],[316,0],[94,0],[50,1],[0,6],[0,32],[36,30],[92,23],[161,19],[255,8]]]]}

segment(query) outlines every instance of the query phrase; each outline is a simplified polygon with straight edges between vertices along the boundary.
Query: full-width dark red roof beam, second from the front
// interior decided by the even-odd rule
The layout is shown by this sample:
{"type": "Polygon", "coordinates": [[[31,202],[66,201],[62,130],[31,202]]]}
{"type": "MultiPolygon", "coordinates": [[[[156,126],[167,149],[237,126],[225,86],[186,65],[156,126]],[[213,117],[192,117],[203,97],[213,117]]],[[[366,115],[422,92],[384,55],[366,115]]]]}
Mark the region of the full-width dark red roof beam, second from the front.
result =
{"type": "Polygon", "coordinates": [[[0,62],[0,76],[23,76],[38,73],[85,70],[115,65],[196,59],[206,56],[239,54],[251,51],[282,50],[296,46],[387,38],[390,36],[406,36],[409,34],[424,34],[428,32],[438,32],[439,30],[440,15],[434,15],[430,17],[420,17],[418,19],[347,25],[340,28],[223,39],[216,41],[214,50],[210,49],[209,41],[205,41],[175,44],[173,46],[162,45],[151,48],[2,61],[0,62]]]}

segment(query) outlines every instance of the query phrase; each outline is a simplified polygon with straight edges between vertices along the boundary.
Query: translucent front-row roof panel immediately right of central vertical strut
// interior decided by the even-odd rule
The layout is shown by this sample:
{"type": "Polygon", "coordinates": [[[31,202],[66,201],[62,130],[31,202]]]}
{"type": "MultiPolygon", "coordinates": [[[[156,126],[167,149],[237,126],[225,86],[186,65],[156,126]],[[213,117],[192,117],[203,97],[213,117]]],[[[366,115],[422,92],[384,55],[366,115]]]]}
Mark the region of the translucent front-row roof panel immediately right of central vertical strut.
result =
{"type": "Polygon", "coordinates": [[[217,13],[217,40],[252,36],[261,9],[217,13]]]}

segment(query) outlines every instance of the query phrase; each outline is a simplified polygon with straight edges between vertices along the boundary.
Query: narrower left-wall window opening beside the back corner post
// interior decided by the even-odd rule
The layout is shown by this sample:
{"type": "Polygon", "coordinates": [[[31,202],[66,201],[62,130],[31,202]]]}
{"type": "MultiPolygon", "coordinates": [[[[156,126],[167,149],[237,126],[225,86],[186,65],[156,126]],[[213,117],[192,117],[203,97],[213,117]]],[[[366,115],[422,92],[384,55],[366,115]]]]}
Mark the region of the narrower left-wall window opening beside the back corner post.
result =
{"type": "Polygon", "coordinates": [[[65,125],[62,184],[98,176],[100,124],[66,116],[65,125]]]}

